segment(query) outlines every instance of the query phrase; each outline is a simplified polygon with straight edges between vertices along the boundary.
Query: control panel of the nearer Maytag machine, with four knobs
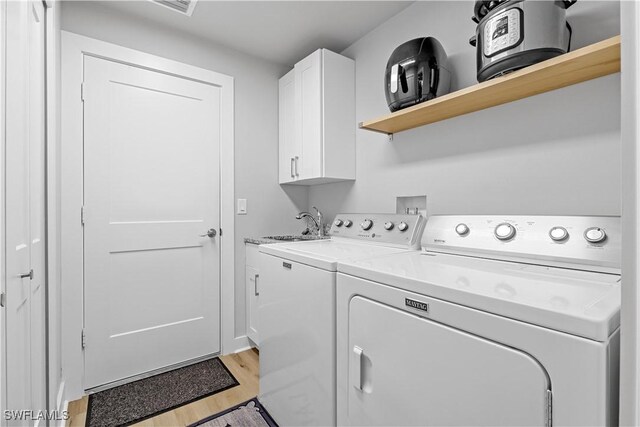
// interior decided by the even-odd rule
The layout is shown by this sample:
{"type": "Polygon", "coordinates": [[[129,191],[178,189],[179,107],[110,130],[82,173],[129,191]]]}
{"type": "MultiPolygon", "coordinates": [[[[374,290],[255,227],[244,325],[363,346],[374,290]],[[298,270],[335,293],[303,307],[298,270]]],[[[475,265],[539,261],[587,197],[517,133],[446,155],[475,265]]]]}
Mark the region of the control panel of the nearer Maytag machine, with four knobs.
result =
{"type": "Polygon", "coordinates": [[[436,215],[427,221],[422,246],[433,252],[614,272],[620,268],[620,218],[436,215]]]}

